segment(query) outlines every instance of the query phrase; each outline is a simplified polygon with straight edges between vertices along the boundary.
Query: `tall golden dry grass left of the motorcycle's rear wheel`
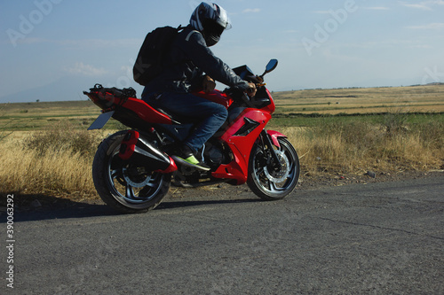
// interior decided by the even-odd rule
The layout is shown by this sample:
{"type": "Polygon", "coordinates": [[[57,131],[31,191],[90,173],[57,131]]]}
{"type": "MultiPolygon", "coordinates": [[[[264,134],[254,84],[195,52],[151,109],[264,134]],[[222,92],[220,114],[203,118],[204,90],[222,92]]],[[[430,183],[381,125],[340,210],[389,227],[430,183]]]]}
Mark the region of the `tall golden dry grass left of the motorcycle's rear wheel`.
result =
{"type": "Polygon", "coordinates": [[[0,192],[4,196],[95,196],[91,164],[106,135],[68,124],[41,131],[13,131],[0,141],[0,192]]]}

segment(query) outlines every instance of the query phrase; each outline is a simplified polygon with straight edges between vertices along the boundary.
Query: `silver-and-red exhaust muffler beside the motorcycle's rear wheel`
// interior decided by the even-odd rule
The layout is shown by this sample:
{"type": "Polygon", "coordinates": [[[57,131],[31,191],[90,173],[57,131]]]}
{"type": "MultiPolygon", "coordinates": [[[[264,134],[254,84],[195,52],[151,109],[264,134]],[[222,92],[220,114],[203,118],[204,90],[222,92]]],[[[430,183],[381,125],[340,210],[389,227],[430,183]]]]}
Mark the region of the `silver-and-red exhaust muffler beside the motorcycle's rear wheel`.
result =
{"type": "Polygon", "coordinates": [[[155,172],[171,173],[178,170],[170,156],[159,151],[136,130],[129,130],[123,137],[119,157],[128,163],[149,167],[155,172]]]}

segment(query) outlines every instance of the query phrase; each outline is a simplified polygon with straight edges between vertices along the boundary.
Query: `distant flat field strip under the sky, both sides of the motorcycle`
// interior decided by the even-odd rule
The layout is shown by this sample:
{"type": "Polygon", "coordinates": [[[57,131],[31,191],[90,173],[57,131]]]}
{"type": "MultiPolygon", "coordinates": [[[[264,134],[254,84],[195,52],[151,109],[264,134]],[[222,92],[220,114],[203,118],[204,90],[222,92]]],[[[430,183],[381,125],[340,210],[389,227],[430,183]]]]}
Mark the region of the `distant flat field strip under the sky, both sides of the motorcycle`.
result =
{"type": "MultiPolygon", "coordinates": [[[[444,84],[369,89],[307,89],[275,92],[273,97],[276,116],[311,113],[444,113],[444,84]]],[[[0,130],[38,130],[67,121],[79,128],[88,128],[99,115],[99,111],[88,100],[0,104],[0,130]]],[[[110,121],[107,125],[111,129],[116,127],[119,126],[115,121],[110,121]]]]}

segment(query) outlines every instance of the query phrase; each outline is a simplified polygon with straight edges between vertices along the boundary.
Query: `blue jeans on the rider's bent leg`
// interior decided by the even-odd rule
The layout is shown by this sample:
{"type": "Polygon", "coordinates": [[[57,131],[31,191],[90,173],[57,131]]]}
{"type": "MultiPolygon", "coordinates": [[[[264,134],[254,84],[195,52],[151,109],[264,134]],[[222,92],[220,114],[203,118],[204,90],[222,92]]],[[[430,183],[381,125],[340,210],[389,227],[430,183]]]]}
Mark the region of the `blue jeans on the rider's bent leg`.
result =
{"type": "Polygon", "coordinates": [[[155,99],[154,94],[144,94],[142,99],[153,107],[199,120],[193,133],[184,142],[194,152],[202,148],[203,144],[225,123],[228,116],[224,105],[196,97],[191,93],[164,92],[158,99],[155,99]]]}

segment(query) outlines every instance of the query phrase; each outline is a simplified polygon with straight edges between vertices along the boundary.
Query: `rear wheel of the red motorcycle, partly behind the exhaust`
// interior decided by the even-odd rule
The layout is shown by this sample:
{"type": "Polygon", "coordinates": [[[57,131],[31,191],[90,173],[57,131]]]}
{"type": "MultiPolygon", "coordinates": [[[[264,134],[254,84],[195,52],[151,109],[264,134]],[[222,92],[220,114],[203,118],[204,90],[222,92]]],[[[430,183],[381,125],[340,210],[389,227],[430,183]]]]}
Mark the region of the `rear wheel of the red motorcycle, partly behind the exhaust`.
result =
{"type": "Polygon", "coordinates": [[[171,174],[125,164],[118,156],[127,131],[108,136],[92,162],[92,180],[99,197],[122,213],[145,213],[158,206],[170,189],[171,174]]]}

